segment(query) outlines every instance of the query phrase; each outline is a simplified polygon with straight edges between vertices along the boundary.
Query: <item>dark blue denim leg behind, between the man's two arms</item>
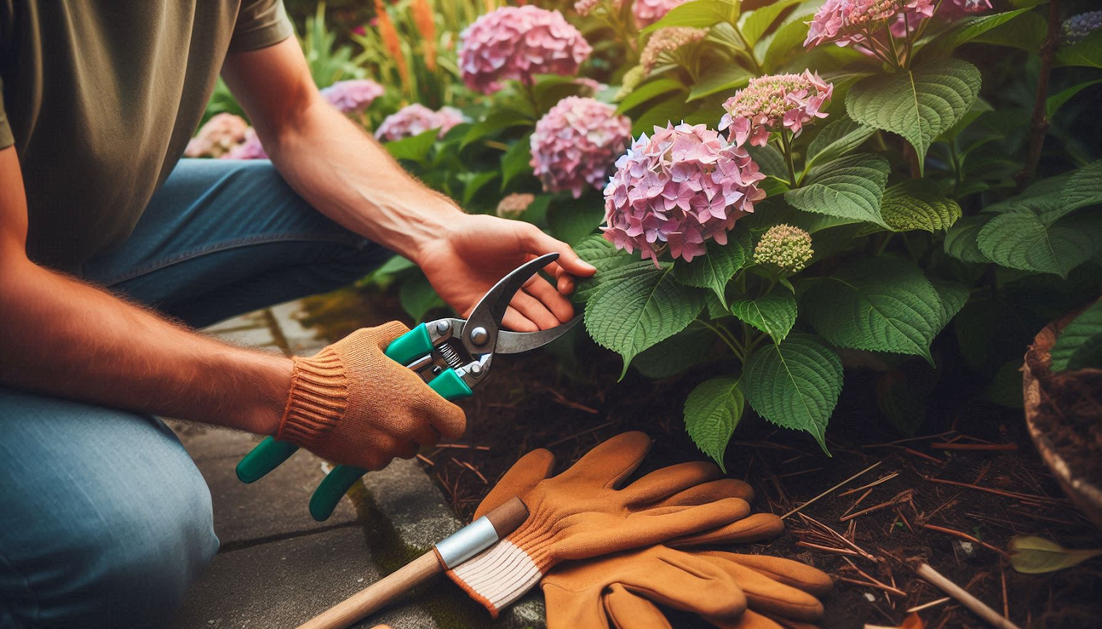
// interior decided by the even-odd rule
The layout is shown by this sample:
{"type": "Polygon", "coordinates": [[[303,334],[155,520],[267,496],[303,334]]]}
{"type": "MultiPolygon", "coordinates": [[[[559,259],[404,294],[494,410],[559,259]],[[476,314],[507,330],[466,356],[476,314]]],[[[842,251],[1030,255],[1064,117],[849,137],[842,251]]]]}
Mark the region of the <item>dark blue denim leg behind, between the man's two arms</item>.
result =
{"type": "Polygon", "coordinates": [[[181,160],[83,276],[202,327],[346,285],[392,253],[329,220],[267,160],[181,160]]]}

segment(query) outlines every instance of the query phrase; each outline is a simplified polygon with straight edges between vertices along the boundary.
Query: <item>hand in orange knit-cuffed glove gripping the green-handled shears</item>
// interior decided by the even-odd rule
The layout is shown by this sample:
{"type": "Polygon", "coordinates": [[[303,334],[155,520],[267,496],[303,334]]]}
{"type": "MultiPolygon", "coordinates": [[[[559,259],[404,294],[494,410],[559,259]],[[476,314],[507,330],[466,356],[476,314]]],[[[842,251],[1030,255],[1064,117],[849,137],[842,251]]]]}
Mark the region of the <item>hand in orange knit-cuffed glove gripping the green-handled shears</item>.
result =
{"type": "Polygon", "coordinates": [[[381,469],[441,436],[460,437],[463,410],[383,354],[407,332],[399,322],[365,327],[312,358],[295,357],[276,438],[335,463],[381,469]]]}

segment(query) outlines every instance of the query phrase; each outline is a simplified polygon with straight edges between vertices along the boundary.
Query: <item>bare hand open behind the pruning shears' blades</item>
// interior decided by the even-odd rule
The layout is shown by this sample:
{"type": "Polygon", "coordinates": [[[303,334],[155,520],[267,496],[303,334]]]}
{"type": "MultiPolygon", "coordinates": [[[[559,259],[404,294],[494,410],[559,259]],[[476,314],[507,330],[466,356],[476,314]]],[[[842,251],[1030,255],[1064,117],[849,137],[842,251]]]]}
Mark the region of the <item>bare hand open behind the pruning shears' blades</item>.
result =
{"type": "Polygon", "coordinates": [[[450,306],[468,316],[478,300],[509,271],[542,256],[559,253],[544,271],[557,286],[533,275],[518,291],[501,324],[517,332],[536,332],[566,323],[574,306],[566,297],[574,291],[574,276],[592,275],[596,269],[536,226],[486,215],[455,215],[450,231],[426,247],[415,262],[450,306]]]}

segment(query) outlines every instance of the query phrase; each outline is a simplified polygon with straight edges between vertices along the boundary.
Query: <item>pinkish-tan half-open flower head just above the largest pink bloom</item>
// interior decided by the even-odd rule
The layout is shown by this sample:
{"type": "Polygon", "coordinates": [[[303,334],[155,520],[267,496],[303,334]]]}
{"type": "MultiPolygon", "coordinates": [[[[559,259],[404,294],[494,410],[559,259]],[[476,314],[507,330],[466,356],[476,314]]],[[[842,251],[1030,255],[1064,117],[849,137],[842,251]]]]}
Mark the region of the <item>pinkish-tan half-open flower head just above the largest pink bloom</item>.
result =
{"type": "Polygon", "coordinates": [[[730,128],[727,137],[738,147],[747,140],[765,147],[769,132],[781,129],[799,135],[804,124],[827,117],[822,108],[833,93],[833,84],[808,69],[755,77],[723,104],[727,112],[720,120],[720,130],[730,128]]]}

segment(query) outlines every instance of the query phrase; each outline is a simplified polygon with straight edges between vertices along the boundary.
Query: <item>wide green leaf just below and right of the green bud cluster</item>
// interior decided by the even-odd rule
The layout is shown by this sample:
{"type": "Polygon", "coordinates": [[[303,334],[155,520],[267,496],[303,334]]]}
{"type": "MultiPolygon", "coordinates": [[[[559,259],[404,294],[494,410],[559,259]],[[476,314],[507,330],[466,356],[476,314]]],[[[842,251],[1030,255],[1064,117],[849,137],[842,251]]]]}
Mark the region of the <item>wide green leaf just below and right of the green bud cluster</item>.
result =
{"type": "Polygon", "coordinates": [[[941,296],[909,260],[872,258],[814,282],[803,311],[838,347],[921,356],[946,317],[941,296]]]}

